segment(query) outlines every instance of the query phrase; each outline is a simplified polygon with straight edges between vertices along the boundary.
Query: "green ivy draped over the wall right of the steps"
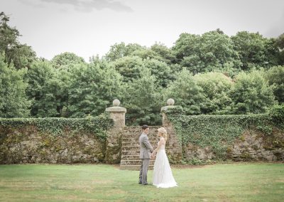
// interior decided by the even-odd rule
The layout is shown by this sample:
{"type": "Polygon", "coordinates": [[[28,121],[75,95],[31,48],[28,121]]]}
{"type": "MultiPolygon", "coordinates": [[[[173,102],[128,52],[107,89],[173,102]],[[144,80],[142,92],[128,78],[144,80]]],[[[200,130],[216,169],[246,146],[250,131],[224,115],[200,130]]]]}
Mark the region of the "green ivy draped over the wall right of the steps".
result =
{"type": "Polygon", "coordinates": [[[187,116],[182,112],[182,107],[166,111],[180,143],[192,143],[202,148],[210,146],[219,159],[224,159],[228,146],[246,129],[258,129],[268,136],[272,134],[273,127],[284,129],[283,105],[275,106],[268,114],[262,115],[187,116]]]}

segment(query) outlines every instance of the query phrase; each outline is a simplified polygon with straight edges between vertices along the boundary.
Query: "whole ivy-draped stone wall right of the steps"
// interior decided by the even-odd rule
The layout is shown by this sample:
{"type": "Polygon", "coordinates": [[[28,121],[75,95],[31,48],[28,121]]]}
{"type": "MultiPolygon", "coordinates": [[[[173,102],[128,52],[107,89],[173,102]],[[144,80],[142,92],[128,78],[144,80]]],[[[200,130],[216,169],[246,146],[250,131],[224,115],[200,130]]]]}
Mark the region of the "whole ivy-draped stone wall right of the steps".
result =
{"type": "Polygon", "coordinates": [[[263,115],[182,115],[167,111],[182,145],[183,161],[232,159],[284,160],[284,107],[263,115]]]}

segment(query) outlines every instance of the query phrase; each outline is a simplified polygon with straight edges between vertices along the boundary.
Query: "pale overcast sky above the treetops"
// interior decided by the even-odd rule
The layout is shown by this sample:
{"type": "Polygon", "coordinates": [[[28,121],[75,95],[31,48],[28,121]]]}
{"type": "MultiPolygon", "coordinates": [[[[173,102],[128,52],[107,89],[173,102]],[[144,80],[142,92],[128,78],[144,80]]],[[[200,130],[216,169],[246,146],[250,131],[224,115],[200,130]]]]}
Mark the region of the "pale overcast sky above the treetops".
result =
{"type": "Polygon", "coordinates": [[[64,52],[101,57],[114,43],[171,47],[180,33],[284,33],[284,0],[1,0],[21,43],[47,59],[64,52]]]}

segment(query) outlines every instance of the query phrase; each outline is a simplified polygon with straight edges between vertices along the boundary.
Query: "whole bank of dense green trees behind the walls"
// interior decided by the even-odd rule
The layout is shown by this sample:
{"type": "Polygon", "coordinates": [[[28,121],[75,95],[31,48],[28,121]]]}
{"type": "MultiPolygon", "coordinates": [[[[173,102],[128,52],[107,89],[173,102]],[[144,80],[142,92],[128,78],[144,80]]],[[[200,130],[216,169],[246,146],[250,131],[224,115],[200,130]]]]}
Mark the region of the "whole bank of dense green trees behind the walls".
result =
{"type": "Polygon", "coordinates": [[[182,33],[171,48],[116,43],[89,63],[36,58],[0,14],[0,117],[97,116],[121,100],[126,124],[160,124],[172,97],[186,115],[246,115],[284,102],[283,35],[182,33]]]}

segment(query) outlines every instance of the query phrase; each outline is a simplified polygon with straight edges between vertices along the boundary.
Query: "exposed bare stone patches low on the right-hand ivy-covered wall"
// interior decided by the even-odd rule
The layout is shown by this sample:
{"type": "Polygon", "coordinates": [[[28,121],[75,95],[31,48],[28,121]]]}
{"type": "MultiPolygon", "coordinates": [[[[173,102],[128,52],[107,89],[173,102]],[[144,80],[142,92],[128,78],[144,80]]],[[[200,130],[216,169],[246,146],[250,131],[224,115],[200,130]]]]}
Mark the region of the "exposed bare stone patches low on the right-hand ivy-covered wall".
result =
{"type": "MultiPolygon", "coordinates": [[[[198,147],[192,143],[183,145],[185,159],[214,159],[212,147],[198,147]]],[[[226,159],[233,161],[284,161],[284,134],[274,128],[270,135],[257,129],[247,129],[236,138],[234,144],[228,145],[226,159]]]]}

